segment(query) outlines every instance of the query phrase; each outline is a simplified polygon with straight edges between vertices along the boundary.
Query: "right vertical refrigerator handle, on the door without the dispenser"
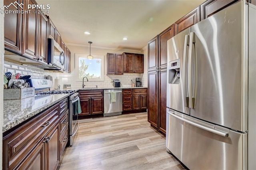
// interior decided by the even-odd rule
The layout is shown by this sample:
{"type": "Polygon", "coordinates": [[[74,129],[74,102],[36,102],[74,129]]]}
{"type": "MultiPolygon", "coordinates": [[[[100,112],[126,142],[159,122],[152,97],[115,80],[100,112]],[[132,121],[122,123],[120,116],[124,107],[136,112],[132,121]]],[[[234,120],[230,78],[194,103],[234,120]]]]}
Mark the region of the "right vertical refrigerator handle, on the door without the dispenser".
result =
{"type": "MultiPolygon", "coordinates": [[[[190,41],[189,41],[189,49],[188,49],[188,100],[189,100],[189,107],[195,107],[195,79],[194,79],[194,89],[192,92],[192,48],[195,47],[194,41],[194,32],[190,32],[190,41]]],[[[196,50],[196,49],[195,49],[196,50]]],[[[196,62],[195,62],[196,63],[196,62]]],[[[196,66],[195,66],[196,68],[196,66]]],[[[196,68],[197,70],[197,68],[196,68]]],[[[196,72],[195,72],[196,74],[196,72]]]]}

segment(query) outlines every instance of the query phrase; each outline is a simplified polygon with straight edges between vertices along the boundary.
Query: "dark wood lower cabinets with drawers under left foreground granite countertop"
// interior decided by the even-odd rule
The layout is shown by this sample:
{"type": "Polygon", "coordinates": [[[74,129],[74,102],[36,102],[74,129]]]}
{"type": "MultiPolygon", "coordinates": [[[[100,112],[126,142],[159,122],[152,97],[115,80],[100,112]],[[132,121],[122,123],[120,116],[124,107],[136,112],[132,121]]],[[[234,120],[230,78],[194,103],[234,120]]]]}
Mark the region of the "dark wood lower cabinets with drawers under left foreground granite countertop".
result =
{"type": "MultiPolygon", "coordinates": [[[[60,101],[8,132],[4,132],[2,169],[57,169],[63,152],[60,151],[60,134],[66,137],[66,140],[68,139],[68,126],[60,126],[62,123],[66,124],[67,100],[66,98],[60,101]],[[63,114],[60,114],[60,111],[63,114]],[[64,130],[60,130],[61,128],[64,130]]],[[[62,150],[67,144],[66,140],[62,142],[62,150]]]]}

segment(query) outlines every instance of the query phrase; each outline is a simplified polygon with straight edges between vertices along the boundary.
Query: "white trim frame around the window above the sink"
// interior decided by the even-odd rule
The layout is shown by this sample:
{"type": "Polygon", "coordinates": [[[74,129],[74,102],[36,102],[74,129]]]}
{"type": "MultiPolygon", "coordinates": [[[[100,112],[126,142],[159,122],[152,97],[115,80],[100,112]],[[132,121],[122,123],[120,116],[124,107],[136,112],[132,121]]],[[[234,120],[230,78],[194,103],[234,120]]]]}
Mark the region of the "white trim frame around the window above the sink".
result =
{"type": "MultiPolygon", "coordinates": [[[[87,58],[89,54],[75,54],[75,73],[76,73],[76,78],[75,80],[78,82],[81,82],[83,81],[83,79],[79,79],[78,78],[78,73],[79,73],[79,60],[78,58],[79,57],[82,57],[82,58],[87,58]]],[[[101,78],[88,78],[88,81],[90,82],[98,82],[98,81],[104,81],[104,66],[105,66],[105,62],[104,62],[104,56],[101,56],[101,55],[93,55],[95,58],[100,58],[102,60],[102,63],[101,63],[101,78]]]]}

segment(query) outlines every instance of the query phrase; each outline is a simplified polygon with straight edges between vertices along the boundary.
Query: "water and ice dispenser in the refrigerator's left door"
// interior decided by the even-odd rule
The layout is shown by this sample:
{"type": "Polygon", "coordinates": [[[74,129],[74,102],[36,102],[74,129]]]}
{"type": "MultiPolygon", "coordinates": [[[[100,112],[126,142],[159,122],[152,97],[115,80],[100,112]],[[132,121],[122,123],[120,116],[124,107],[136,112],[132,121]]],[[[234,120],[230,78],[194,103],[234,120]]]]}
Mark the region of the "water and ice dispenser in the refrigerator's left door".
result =
{"type": "Polygon", "coordinates": [[[180,59],[170,61],[169,63],[169,77],[170,84],[180,84],[180,59]]]}

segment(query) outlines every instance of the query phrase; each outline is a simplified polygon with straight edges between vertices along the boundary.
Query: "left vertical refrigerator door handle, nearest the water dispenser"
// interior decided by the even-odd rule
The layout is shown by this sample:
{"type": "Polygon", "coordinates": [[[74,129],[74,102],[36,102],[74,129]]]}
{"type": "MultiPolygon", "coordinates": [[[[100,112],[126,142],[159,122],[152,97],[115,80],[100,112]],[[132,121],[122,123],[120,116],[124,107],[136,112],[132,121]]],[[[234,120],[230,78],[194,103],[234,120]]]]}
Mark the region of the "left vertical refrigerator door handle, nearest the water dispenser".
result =
{"type": "Polygon", "coordinates": [[[185,101],[184,101],[184,104],[185,104],[185,107],[188,107],[189,106],[189,98],[188,98],[188,92],[186,91],[187,90],[187,81],[186,81],[186,62],[187,62],[187,46],[189,46],[189,35],[186,35],[185,36],[185,41],[184,41],[184,52],[183,52],[183,74],[182,74],[182,79],[183,79],[183,89],[182,89],[182,92],[184,93],[185,95],[185,101]]]}

